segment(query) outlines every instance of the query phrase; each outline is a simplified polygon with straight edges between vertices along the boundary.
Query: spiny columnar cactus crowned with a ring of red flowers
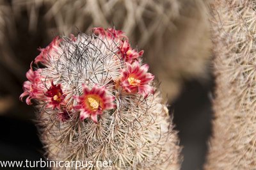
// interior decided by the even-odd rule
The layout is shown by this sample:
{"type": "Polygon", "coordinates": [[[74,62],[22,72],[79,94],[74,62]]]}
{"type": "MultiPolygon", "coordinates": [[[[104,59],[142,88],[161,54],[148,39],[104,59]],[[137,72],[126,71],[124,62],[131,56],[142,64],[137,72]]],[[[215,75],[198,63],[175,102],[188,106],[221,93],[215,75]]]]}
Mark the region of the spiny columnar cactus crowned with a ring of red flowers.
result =
{"type": "Polygon", "coordinates": [[[92,36],[56,37],[40,51],[20,98],[36,103],[49,159],[179,169],[177,132],[154,75],[122,31],[96,27],[92,36]]]}

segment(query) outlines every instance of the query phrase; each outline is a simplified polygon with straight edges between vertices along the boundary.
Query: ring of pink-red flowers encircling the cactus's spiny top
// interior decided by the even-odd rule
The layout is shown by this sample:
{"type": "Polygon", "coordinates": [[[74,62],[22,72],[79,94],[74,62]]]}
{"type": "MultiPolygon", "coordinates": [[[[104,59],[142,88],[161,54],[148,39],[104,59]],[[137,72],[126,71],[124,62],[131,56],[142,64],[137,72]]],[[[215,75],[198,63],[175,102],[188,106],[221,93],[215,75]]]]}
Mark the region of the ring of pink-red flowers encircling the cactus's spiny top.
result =
{"type": "MultiPolygon", "coordinates": [[[[111,59],[113,61],[122,63],[118,68],[119,76],[113,78],[115,86],[111,91],[121,91],[125,95],[142,95],[147,98],[150,93],[154,93],[151,82],[154,75],[148,73],[148,65],[141,65],[141,56],[143,50],[138,52],[132,49],[128,38],[122,31],[113,28],[103,29],[102,27],[93,28],[92,38],[97,38],[104,43],[115,44],[115,52],[111,59]]],[[[73,35],[68,38],[70,42],[79,42],[79,38],[73,35]]],[[[61,60],[65,48],[61,43],[65,42],[64,38],[56,37],[44,49],[39,49],[41,52],[36,56],[35,61],[31,63],[29,71],[26,73],[28,81],[24,82],[24,93],[20,95],[20,100],[26,98],[26,103],[31,105],[31,99],[36,100],[39,104],[45,104],[47,109],[56,109],[61,121],[67,121],[70,118],[70,112],[80,112],[80,119],[91,118],[95,123],[98,122],[98,116],[102,115],[104,111],[116,108],[116,94],[111,93],[106,88],[106,85],[99,86],[94,83],[92,88],[82,84],[83,94],[77,94],[75,91],[65,88],[66,85],[60,83],[60,79],[64,76],[58,76],[58,69],[56,69],[56,61],[61,60]],[[33,64],[37,65],[33,70],[33,64]],[[44,65],[39,68],[39,64],[44,65]],[[49,69],[49,68],[55,68],[49,69]],[[45,70],[52,73],[52,76],[45,75],[45,70]],[[56,75],[56,77],[54,77],[56,75]]],[[[67,41],[66,41],[67,43],[67,41]]],[[[95,47],[96,48],[96,47],[95,47]]],[[[86,48],[84,48],[86,50],[86,48]]],[[[64,61],[63,63],[67,63],[64,61]]],[[[100,65],[100,64],[99,64],[100,65]]],[[[86,67],[85,67],[86,68],[86,67]]],[[[108,68],[111,69],[111,68],[108,68]]],[[[84,70],[81,70],[83,72],[84,70]]],[[[86,71],[86,70],[85,70],[86,71]]],[[[63,81],[62,81],[63,82],[63,81]]]]}

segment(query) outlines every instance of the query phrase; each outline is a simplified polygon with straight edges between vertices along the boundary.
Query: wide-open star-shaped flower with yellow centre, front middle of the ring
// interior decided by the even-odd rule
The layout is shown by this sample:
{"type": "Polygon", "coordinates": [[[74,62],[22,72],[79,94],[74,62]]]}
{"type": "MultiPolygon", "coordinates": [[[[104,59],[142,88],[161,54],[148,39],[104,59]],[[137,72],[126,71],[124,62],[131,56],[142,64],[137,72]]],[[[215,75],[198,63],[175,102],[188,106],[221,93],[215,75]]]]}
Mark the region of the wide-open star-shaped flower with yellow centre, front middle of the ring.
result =
{"type": "Polygon", "coordinates": [[[113,103],[115,97],[107,95],[107,89],[97,84],[90,90],[83,84],[83,95],[74,96],[77,100],[77,105],[74,109],[80,112],[80,120],[91,118],[95,123],[98,122],[97,116],[102,115],[104,110],[115,109],[116,105],[113,103]]]}

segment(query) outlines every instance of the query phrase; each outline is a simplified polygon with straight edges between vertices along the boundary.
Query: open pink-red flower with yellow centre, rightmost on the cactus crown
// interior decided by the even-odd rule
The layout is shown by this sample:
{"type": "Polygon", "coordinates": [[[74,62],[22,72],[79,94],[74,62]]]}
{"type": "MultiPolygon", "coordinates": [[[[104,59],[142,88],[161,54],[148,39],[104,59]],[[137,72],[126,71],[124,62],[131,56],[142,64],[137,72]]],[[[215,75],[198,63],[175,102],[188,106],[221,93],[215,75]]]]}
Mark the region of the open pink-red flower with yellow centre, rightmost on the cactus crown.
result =
{"type": "Polygon", "coordinates": [[[132,65],[127,63],[127,70],[122,70],[120,86],[127,93],[139,93],[147,98],[154,89],[148,83],[154,79],[152,73],[147,73],[148,65],[142,65],[135,61],[132,65]]]}

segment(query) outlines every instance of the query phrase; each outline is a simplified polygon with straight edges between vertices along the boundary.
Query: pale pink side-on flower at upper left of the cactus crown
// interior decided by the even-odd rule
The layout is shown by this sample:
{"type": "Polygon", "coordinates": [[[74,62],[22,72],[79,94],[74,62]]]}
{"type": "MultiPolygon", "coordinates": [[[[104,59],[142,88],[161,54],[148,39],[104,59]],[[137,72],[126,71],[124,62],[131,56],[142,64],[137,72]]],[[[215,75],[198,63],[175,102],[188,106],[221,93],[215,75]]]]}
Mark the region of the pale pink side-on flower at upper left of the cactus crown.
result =
{"type": "Polygon", "coordinates": [[[54,58],[54,55],[57,53],[57,47],[59,47],[61,42],[61,39],[59,39],[59,36],[56,36],[52,42],[45,47],[44,49],[39,48],[40,54],[36,56],[35,63],[41,62],[45,64],[49,58],[54,58]]]}

